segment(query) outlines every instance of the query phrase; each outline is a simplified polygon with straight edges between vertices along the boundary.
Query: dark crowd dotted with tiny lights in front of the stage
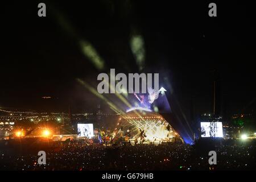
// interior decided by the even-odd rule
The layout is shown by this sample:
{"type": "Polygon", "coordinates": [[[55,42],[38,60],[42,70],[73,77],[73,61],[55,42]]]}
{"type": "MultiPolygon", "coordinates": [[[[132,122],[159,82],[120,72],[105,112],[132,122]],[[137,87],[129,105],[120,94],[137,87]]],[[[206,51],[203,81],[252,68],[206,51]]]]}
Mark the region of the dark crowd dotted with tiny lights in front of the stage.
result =
{"type": "Polygon", "coordinates": [[[256,154],[255,143],[222,143],[215,146],[217,164],[210,165],[208,152],[182,143],[109,146],[89,140],[17,140],[1,148],[1,170],[246,170],[255,169],[256,154]],[[38,164],[40,150],[46,151],[45,165],[38,164]]]}

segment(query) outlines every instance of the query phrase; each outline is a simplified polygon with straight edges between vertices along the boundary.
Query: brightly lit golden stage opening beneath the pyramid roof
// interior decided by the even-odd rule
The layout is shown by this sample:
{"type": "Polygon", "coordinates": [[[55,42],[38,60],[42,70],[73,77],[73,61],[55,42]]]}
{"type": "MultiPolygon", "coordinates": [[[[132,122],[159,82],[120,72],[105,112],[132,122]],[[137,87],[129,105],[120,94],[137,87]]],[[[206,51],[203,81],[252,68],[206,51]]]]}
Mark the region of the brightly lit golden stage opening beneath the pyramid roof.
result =
{"type": "Polygon", "coordinates": [[[183,142],[180,135],[162,115],[148,109],[130,109],[119,117],[114,137],[130,140],[134,143],[183,142]]]}

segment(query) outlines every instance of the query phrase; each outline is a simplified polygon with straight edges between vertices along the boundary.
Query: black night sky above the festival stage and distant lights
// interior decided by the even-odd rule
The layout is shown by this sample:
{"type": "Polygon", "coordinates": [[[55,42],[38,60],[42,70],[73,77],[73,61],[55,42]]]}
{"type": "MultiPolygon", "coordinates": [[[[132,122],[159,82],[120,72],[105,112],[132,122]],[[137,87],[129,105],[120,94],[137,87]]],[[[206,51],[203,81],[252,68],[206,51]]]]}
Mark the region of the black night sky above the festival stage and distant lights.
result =
{"type": "MultiPolygon", "coordinates": [[[[39,1],[1,2],[0,107],[93,111],[104,102],[76,78],[97,86],[97,75],[139,72],[130,48],[134,30],[144,39],[142,72],[160,74],[172,108],[188,114],[212,111],[217,80],[220,113],[255,108],[255,19],[245,1],[216,2],[217,17],[205,1],[40,1],[47,17],[38,17],[39,1]],[[61,27],[56,12],[72,25],[61,27]],[[77,38],[88,40],[105,61],[98,71],[84,56],[77,38]],[[164,79],[167,78],[167,80],[164,79]],[[51,96],[45,100],[41,97],[51,96]]],[[[115,100],[112,100],[115,102],[115,100]]]]}

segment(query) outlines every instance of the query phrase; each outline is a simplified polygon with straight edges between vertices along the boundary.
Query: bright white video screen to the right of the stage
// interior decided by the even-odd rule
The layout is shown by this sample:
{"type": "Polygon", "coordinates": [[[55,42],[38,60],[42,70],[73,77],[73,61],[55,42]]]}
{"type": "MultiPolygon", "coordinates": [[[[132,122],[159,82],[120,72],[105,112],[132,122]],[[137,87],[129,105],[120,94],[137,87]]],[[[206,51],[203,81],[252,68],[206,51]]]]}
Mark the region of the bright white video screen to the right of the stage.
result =
{"type": "Polygon", "coordinates": [[[201,122],[201,137],[223,137],[222,122],[201,122]]]}

